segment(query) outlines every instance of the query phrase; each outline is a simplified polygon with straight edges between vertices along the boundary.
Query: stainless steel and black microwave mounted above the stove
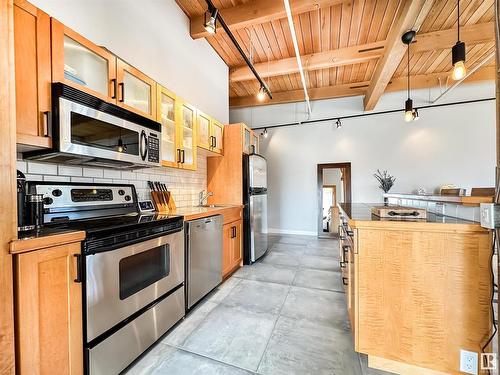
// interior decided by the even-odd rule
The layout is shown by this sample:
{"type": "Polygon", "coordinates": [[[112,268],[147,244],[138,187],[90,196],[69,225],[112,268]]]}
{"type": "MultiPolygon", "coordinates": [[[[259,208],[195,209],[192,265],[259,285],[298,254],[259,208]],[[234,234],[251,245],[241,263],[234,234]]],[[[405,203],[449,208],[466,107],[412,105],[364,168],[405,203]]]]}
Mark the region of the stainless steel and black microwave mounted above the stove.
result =
{"type": "Polygon", "coordinates": [[[113,168],[160,166],[161,124],[62,83],[52,86],[53,149],[26,159],[113,168]]]}

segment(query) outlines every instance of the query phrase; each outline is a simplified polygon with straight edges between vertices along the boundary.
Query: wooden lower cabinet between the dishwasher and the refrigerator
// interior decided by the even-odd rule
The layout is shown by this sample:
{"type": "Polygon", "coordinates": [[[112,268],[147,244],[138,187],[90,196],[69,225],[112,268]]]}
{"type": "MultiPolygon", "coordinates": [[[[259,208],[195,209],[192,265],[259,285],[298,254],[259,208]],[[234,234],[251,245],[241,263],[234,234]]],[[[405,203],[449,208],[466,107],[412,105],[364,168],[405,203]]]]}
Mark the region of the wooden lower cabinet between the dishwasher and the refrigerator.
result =
{"type": "Polygon", "coordinates": [[[243,220],[223,226],[222,277],[236,270],[242,260],[243,220]]]}

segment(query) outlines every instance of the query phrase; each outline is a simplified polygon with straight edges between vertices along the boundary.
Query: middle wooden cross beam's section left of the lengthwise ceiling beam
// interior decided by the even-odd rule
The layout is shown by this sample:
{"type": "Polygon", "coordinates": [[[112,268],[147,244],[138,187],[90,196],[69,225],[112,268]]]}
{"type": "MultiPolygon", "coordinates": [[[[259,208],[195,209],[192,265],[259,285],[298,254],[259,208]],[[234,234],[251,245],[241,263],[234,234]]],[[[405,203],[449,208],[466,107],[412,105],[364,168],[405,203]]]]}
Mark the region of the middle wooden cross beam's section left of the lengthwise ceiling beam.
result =
{"type": "MultiPolygon", "coordinates": [[[[328,69],[337,66],[362,63],[382,56],[385,42],[375,42],[354,47],[339,48],[331,51],[312,53],[302,56],[304,70],[328,69]]],[[[274,77],[298,73],[299,67],[295,57],[254,64],[261,77],[274,77]]],[[[255,79],[247,66],[237,67],[229,73],[231,82],[255,79]]]]}

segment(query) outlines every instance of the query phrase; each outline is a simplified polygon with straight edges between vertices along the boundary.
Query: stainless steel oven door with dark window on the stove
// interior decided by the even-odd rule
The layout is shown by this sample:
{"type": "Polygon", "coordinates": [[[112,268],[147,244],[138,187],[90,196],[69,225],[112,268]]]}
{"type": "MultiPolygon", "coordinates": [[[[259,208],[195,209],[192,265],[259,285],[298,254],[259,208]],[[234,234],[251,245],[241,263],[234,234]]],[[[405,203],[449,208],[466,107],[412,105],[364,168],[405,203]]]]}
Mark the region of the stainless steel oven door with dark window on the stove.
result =
{"type": "Polygon", "coordinates": [[[91,341],[184,282],[184,231],[85,258],[87,341],[91,341]],[[160,251],[168,264],[164,277],[156,280],[160,251]],[[147,252],[156,264],[144,259],[147,252]]]}

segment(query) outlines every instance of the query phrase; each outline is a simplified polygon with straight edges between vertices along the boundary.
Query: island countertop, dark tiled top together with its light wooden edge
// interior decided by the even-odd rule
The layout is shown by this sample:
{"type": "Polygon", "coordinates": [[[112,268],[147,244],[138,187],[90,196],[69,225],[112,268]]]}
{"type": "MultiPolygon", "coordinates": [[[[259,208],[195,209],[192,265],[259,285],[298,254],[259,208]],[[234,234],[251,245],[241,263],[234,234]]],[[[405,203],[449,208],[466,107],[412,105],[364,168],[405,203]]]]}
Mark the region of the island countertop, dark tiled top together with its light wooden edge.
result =
{"type": "MultiPolygon", "coordinates": [[[[341,203],[338,204],[341,212],[348,218],[351,228],[384,228],[399,230],[428,230],[428,231],[460,231],[486,232],[479,223],[451,216],[437,215],[427,212],[427,219],[394,219],[380,218],[372,214],[373,206],[380,203],[341,203]]],[[[392,206],[392,205],[389,205],[392,206]]]]}

